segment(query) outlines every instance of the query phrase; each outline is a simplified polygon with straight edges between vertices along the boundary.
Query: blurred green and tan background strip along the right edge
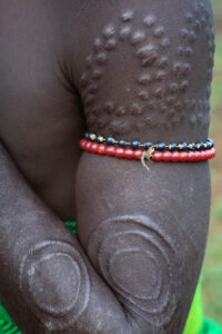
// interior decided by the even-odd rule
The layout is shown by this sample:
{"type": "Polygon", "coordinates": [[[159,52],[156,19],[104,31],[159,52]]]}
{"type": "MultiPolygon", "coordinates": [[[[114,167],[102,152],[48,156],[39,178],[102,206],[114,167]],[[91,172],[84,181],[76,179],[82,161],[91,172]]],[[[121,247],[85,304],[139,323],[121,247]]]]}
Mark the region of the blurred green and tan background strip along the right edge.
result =
{"type": "Polygon", "coordinates": [[[211,98],[210,137],[216,146],[211,161],[211,225],[202,271],[204,315],[222,325],[222,0],[212,0],[215,20],[215,63],[211,98]]]}

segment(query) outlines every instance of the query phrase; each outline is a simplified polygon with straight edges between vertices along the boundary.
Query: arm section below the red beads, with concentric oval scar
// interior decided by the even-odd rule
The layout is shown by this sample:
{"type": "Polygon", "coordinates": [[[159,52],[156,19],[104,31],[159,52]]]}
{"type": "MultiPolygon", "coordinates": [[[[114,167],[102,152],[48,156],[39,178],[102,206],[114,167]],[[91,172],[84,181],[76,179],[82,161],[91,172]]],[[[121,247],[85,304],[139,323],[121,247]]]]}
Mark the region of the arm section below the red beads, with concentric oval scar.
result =
{"type": "Polygon", "coordinates": [[[78,175],[79,236],[142,333],[179,334],[204,253],[209,166],[150,161],[150,169],[85,153],[78,175]]]}

